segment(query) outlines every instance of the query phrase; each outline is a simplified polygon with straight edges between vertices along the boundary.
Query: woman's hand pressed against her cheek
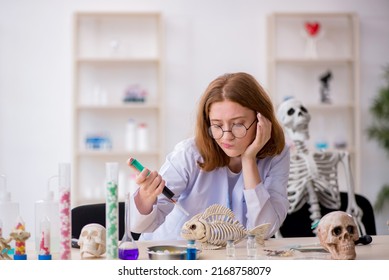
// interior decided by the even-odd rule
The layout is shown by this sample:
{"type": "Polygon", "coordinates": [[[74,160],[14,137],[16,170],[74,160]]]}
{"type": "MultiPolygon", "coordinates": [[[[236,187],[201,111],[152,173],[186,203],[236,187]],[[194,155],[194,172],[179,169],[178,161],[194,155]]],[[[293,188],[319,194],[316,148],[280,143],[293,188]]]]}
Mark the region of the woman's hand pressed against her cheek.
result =
{"type": "Polygon", "coordinates": [[[254,141],[247,147],[243,156],[255,158],[257,153],[265,146],[271,137],[271,122],[260,113],[257,114],[257,119],[257,131],[254,141]]]}

